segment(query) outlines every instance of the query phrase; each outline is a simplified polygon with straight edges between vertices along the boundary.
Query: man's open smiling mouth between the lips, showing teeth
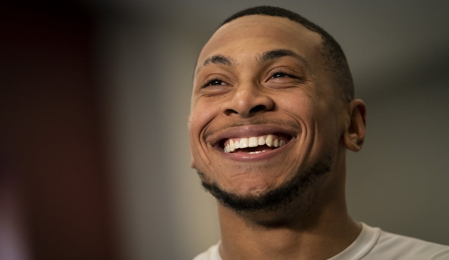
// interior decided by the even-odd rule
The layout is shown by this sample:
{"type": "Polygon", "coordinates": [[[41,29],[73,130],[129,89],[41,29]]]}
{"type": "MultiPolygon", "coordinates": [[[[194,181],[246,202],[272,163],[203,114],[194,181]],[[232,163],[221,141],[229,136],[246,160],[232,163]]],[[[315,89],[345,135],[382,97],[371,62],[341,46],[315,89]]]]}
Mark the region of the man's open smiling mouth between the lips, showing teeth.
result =
{"type": "Polygon", "coordinates": [[[219,146],[226,153],[246,152],[256,154],[268,152],[286,145],[292,139],[289,134],[264,134],[252,137],[222,139],[219,146]]]}

